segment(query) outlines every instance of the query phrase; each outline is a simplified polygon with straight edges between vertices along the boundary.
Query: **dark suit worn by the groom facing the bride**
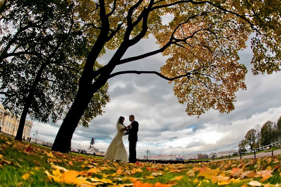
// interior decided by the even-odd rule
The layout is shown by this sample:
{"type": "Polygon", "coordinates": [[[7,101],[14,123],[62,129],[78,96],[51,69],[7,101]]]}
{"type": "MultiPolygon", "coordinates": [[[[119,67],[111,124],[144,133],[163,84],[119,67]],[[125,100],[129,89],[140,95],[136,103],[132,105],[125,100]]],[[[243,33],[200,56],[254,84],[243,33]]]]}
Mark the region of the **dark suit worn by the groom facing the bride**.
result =
{"type": "Polygon", "coordinates": [[[138,141],[138,131],[139,131],[139,123],[133,121],[131,123],[132,128],[129,129],[129,162],[135,163],[136,162],[136,142],[138,141]]]}

